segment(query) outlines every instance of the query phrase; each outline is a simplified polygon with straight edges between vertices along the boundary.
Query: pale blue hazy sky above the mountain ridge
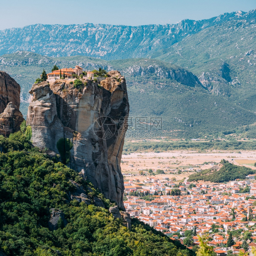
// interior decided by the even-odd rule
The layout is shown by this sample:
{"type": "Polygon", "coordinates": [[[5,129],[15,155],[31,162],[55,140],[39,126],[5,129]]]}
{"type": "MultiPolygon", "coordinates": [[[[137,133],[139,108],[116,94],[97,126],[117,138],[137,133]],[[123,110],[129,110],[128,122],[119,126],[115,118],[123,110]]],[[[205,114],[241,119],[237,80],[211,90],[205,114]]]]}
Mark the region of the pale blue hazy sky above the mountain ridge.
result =
{"type": "Polygon", "coordinates": [[[0,30],[31,24],[175,24],[256,8],[255,0],[1,0],[0,30]]]}

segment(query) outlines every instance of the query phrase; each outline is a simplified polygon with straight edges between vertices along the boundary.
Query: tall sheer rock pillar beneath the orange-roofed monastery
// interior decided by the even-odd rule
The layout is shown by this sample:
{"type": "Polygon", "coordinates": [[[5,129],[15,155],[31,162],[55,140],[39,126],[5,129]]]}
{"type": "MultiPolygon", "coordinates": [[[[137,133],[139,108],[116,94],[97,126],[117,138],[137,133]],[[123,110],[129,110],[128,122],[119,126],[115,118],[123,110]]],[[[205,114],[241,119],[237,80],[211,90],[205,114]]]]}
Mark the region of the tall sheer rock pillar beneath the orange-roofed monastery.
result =
{"type": "Polygon", "coordinates": [[[108,74],[101,84],[85,80],[79,88],[70,80],[34,84],[27,124],[32,127],[33,144],[57,154],[57,141],[69,138],[70,167],[82,171],[106,198],[124,209],[120,162],[129,103],[124,77],[118,71],[108,74]]]}

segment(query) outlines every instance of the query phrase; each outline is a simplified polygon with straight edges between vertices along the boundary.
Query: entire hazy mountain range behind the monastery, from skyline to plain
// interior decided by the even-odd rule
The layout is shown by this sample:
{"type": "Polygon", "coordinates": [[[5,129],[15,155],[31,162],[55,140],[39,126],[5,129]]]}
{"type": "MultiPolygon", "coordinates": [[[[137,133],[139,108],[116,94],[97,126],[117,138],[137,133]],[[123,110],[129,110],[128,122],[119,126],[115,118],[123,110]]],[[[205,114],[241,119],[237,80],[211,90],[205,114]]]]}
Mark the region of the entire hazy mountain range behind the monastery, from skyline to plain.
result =
{"type": "Polygon", "coordinates": [[[160,117],[171,137],[217,135],[256,122],[255,26],[252,10],[167,25],[5,29],[0,69],[20,83],[23,114],[43,68],[102,67],[125,75],[134,119],[160,117]]]}

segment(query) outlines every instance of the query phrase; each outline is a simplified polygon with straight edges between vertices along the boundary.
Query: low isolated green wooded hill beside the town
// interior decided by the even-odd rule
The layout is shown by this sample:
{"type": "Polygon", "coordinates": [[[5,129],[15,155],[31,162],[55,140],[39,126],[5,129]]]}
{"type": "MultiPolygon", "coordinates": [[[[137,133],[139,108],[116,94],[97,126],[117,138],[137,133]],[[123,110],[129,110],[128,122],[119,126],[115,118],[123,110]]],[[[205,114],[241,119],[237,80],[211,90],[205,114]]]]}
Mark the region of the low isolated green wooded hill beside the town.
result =
{"type": "Polygon", "coordinates": [[[226,182],[235,179],[245,179],[247,175],[254,173],[255,170],[252,170],[251,168],[237,166],[232,163],[224,163],[218,171],[207,169],[190,175],[188,181],[204,180],[211,182],[226,182]]]}

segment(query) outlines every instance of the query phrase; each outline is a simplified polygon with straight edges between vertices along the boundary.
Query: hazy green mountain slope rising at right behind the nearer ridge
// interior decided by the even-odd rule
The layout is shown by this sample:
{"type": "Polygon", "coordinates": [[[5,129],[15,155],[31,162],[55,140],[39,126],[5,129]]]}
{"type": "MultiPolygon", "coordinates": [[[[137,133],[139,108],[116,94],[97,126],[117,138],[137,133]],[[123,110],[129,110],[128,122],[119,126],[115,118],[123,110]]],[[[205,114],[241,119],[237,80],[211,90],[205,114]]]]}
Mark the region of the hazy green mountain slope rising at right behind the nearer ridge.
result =
{"type": "Polygon", "coordinates": [[[187,68],[210,92],[255,112],[255,10],[236,17],[187,36],[157,58],[187,68]]]}

